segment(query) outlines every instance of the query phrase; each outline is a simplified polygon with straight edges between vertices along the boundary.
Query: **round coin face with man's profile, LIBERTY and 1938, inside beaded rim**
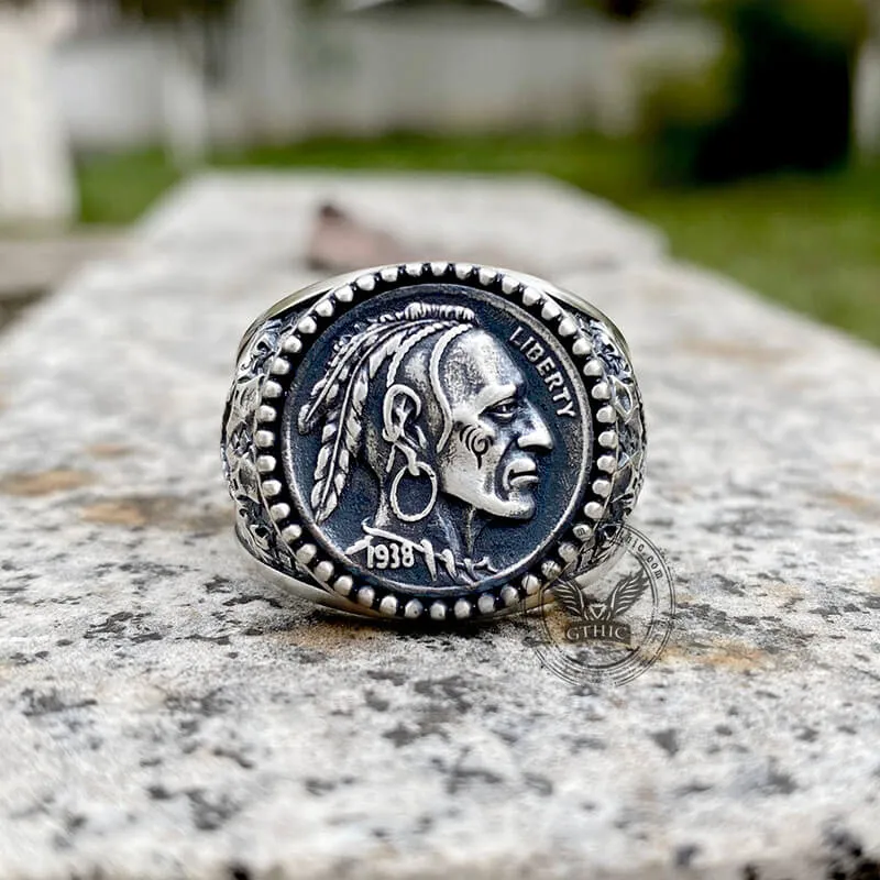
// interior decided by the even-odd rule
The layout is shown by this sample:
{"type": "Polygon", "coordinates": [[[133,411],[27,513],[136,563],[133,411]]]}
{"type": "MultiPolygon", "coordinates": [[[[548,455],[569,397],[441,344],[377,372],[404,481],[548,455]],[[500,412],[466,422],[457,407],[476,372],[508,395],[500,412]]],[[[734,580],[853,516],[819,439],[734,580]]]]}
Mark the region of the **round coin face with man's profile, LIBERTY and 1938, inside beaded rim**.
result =
{"type": "Polygon", "coordinates": [[[507,304],[422,288],[370,306],[310,353],[289,402],[306,516],[367,579],[442,592],[508,576],[580,491],[590,421],[573,367],[507,304]]]}

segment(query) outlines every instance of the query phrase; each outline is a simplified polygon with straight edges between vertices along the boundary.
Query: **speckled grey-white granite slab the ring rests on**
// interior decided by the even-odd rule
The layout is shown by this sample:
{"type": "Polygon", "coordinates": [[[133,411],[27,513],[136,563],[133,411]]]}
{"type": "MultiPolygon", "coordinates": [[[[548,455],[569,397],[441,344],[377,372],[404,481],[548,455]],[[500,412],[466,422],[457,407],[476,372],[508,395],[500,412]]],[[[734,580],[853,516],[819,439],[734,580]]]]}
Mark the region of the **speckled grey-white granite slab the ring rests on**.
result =
{"type": "Polygon", "coordinates": [[[541,182],[206,178],[0,342],[0,876],[876,878],[880,359],[541,182]],[[543,670],[522,620],[414,634],[233,546],[238,338],[333,198],[531,268],[632,343],[663,659],[543,670]]]}

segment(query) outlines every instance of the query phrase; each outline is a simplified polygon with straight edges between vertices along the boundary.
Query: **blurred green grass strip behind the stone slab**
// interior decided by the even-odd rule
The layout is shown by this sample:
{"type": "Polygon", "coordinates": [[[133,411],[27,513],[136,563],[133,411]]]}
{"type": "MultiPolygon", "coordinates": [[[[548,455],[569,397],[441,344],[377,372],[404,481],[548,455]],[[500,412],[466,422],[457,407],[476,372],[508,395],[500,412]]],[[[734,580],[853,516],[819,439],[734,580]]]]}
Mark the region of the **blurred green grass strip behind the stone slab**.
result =
{"type": "MultiPolygon", "coordinates": [[[[657,224],[676,257],[880,344],[880,165],[724,187],[652,183],[635,142],[594,135],[317,139],[213,155],[224,168],[532,172],[568,180],[657,224]]],[[[180,179],[160,151],[78,163],[81,220],[128,223],[180,179]]]]}

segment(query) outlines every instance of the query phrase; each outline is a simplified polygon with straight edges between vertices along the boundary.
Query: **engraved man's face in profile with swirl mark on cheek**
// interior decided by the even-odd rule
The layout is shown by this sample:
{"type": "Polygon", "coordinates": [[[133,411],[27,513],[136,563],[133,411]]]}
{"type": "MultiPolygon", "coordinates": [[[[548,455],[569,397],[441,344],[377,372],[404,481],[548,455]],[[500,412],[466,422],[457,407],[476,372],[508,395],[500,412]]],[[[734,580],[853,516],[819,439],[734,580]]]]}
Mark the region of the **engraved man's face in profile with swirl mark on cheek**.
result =
{"type": "Polygon", "coordinates": [[[492,516],[531,518],[536,453],[553,440],[509,354],[490,333],[471,330],[449,345],[438,378],[454,425],[438,455],[441,491],[492,516]]]}

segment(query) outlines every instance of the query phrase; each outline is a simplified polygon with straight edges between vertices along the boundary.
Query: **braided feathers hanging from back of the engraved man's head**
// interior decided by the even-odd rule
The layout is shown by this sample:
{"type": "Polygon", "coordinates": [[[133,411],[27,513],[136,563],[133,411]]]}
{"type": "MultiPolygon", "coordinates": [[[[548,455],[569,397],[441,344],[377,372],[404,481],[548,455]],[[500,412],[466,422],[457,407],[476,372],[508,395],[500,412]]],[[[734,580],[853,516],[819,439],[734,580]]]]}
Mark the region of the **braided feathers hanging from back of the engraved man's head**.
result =
{"type": "Polygon", "coordinates": [[[411,302],[403,311],[388,312],[356,323],[352,333],[333,345],[323,377],[299,410],[297,427],[310,433],[323,422],[321,447],[315,464],[311,507],[318,522],[339,505],[352,463],[361,452],[363,413],[371,383],[388,363],[391,385],[406,355],[428,337],[460,327],[476,327],[471,309],[411,302]]]}

